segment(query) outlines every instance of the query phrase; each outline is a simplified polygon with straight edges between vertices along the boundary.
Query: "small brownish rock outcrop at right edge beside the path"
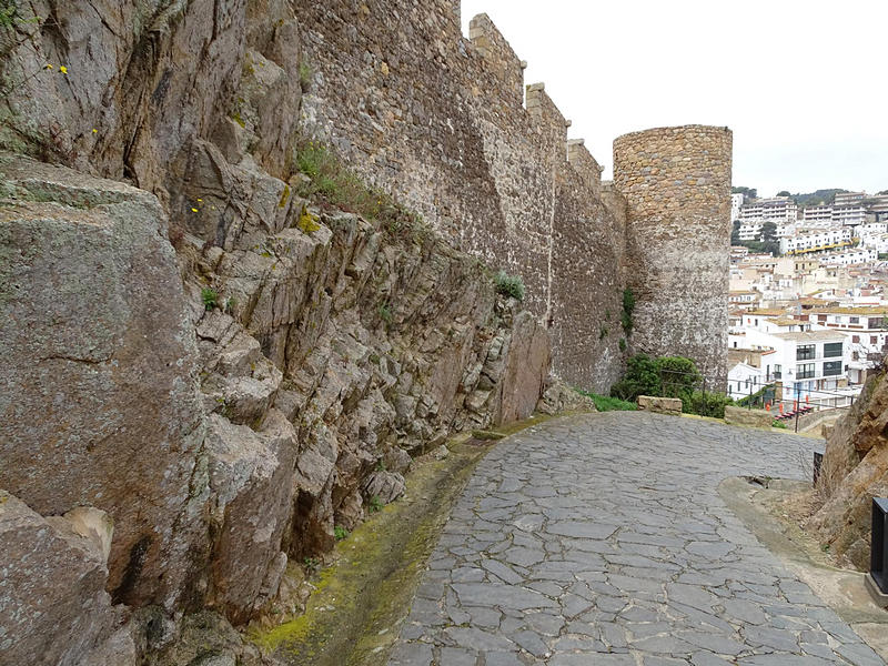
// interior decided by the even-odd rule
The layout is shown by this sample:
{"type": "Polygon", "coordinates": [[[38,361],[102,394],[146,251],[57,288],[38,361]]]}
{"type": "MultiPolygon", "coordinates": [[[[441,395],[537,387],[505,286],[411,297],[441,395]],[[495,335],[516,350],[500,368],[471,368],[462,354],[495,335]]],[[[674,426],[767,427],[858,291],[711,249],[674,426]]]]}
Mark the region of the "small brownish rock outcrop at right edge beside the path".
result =
{"type": "Polygon", "coordinates": [[[824,506],[811,518],[830,553],[869,571],[872,497],[888,495],[888,382],[871,379],[827,440],[818,484],[824,506]]]}

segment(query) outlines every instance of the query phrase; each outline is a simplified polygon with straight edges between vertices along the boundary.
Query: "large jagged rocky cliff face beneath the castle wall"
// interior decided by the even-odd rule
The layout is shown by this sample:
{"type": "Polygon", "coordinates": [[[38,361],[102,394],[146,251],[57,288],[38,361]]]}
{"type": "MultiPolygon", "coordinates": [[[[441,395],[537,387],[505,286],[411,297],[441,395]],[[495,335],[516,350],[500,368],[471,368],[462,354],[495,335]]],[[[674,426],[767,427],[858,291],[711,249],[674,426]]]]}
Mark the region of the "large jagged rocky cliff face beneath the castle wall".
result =
{"type": "Polygon", "coordinates": [[[548,339],[422,225],[295,196],[283,0],[32,14],[2,53],[0,544],[40,561],[0,589],[0,662],[50,636],[47,664],[191,663],[212,635],[258,664],[201,609],[248,622],[412,454],[528,415],[548,339]]]}

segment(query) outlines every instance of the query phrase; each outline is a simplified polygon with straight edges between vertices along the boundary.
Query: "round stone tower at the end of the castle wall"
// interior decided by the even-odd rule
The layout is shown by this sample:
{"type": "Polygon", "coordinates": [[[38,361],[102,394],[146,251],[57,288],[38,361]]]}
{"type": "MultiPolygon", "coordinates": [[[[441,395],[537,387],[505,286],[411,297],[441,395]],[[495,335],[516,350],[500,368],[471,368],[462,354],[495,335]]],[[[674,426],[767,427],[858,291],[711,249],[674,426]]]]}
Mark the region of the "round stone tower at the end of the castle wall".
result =
{"type": "Polygon", "coordinates": [[[728,370],[730,165],[728,128],[658,128],[614,141],[614,184],[628,208],[634,351],[688,356],[717,391],[728,370]]]}

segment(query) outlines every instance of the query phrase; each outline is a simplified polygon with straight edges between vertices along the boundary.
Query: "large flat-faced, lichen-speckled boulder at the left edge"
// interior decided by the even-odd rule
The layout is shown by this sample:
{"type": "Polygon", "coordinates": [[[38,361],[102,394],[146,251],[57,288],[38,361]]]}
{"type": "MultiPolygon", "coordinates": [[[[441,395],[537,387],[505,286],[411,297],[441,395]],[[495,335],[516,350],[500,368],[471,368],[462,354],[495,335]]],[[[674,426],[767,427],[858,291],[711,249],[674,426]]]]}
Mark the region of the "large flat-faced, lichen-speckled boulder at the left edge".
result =
{"type": "Polygon", "coordinates": [[[115,599],[174,604],[206,531],[196,347],[167,218],[123,183],[11,155],[0,172],[16,188],[0,209],[0,486],[43,515],[107,512],[115,599]]]}

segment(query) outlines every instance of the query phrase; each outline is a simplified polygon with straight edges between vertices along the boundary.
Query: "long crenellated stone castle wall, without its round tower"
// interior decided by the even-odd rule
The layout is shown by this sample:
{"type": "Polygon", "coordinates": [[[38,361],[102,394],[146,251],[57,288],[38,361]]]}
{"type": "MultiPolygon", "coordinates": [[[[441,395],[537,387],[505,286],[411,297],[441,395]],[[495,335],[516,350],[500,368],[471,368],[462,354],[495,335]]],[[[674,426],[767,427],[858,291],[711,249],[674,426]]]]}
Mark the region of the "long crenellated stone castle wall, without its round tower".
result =
{"type": "Polygon", "coordinates": [[[518,274],[557,374],[622,373],[620,222],[601,167],[482,14],[453,0],[297,0],[306,127],[462,250],[518,274]]]}

